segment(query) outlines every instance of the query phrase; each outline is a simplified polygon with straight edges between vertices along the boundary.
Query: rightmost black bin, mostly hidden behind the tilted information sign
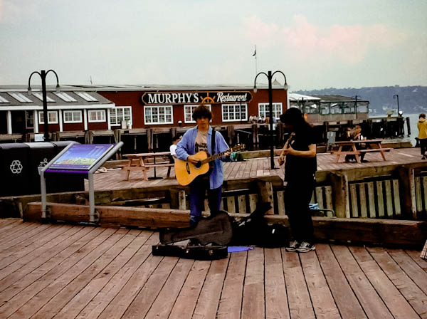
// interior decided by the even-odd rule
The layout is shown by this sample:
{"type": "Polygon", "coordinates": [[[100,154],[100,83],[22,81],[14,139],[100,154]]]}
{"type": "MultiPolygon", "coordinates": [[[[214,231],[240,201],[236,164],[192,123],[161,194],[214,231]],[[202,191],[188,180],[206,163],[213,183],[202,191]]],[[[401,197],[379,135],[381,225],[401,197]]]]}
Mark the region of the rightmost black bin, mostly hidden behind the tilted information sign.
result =
{"type": "MultiPolygon", "coordinates": [[[[58,155],[73,141],[51,142],[55,147],[55,155],[58,155]]],[[[79,144],[79,143],[78,143],[79,144]]],[[[85,190],[85,174],[46,173],[46,192],[79,192],[85,190]]]]}

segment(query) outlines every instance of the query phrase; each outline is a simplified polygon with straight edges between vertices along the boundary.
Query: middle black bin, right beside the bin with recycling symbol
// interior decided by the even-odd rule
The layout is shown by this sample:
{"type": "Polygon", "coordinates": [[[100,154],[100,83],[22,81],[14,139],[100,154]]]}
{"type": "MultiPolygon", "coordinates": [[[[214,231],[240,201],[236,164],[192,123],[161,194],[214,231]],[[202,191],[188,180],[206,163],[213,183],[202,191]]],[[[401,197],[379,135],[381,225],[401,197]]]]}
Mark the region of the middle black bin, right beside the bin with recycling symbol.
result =
{"type": "MultiPolygon", "coordinates": [[[[40,172],[48,162],[51,162],[53,157],[58,154],[55,145],[50,142],[32,142],[23,143],[30,147],[30,194],[40,194],[40,172]]],[[[52,183],[47,183],[47,192],[56,192],[55,186],[52,183]]]]}

